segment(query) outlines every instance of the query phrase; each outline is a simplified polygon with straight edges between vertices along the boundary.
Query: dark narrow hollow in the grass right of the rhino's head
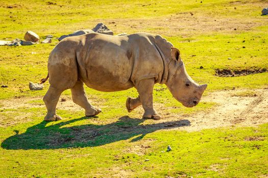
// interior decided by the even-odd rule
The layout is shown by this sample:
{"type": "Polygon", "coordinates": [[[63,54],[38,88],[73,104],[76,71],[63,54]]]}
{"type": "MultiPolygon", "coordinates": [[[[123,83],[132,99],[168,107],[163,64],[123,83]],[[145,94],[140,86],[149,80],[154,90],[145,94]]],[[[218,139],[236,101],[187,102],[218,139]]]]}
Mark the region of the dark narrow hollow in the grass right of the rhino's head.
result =
{"type": "Polygon", "coordinates": [[[237,77],[237,76],[245,76],[245,75],[250,75],[250,74],[258,74],[258,73],[263,73],[267,72],[267,69],[262,68],[262,69],[216,69],[215,70],[215,75],[220,76],[220,77],[237,77]]]}

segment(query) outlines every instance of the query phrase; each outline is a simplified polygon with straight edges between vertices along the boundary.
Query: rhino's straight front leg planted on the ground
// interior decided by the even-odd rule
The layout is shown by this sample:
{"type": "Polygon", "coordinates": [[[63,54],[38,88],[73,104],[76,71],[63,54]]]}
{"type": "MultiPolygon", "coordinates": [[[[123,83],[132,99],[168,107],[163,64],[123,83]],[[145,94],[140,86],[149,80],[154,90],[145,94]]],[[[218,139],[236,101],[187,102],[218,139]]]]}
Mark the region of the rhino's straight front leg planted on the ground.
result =
{"type": "Polygon", "coordinates": [[[160,115],[153,107],[153,88],[155,79],[143,79],[138,82],[136,88],[139,93],[140,101],[144,109],[143,118],[153,118],[154,120],[160,120],[160,115]]]}

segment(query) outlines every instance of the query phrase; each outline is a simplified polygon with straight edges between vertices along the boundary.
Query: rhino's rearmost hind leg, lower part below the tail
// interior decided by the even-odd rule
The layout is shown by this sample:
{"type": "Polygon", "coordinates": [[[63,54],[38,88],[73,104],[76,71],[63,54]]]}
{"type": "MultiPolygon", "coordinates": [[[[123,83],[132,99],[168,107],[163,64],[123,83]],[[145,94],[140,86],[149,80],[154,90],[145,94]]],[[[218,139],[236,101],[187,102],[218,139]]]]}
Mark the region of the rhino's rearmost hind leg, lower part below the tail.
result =
{"type": "Polygon", "coordinates": [[[61,117],[56,114],[56,106],[59,101],[60,95],[63,90],[59,90],[52,85],[48,88],[43,101],[45,103],[47,113],[45,115],[45,121],[59,121],[61,117]]]}

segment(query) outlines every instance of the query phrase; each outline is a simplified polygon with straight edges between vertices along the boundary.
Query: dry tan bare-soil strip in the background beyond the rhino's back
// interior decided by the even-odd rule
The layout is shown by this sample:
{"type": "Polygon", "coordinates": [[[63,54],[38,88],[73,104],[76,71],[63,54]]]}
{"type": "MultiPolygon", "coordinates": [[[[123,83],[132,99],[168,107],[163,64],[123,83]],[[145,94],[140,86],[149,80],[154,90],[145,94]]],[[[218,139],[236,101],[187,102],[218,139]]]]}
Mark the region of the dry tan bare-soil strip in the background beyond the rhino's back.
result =
{"type": "MultiPolygon", "coordinates": [[[[176,14],[167,15],[157,18],[142,19],[110,19],[104,21],[107,24],[114,25],[115,33],[122,31],[130,32],[148,32],[165,36],[182,36],[189,37],[200,33],[210,32],[236,32],[241,33],[250,29],[265,25],[268,19],[259,16],[252,16],[248,12],[241,11],[243,6],[253,7],[256,9],[265,6],[265,2],[260,1],[237,1],[238,4],[223,4],[225,11],[218,11],[217,8],[210,11],[200,12],[178,12],[176,14]],[[228,9],[229,8],[229,9],[228,9]],[[228,16],[226,14],[236,14],[237,16],[228,16]],[[239,15],[243,14],[243,17],[239,15]]],[[[157,12],[156,12],[157,13],[157,12]]]]}

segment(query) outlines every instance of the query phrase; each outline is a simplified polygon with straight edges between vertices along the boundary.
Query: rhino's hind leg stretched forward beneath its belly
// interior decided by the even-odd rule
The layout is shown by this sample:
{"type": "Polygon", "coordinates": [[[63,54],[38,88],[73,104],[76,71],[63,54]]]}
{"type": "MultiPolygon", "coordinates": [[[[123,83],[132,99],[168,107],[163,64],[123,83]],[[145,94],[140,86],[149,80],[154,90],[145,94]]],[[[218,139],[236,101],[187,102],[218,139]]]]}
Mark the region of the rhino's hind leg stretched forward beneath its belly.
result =
{"type": "Polygon", "coordinates": [[[83,82],[78,80],[74,87],[71,88],[72,101],[85,109],[86,116],[94,116],[102,112],[99,108],[94,108],[87,99],[83,82]]]}

